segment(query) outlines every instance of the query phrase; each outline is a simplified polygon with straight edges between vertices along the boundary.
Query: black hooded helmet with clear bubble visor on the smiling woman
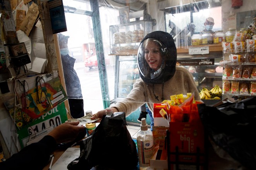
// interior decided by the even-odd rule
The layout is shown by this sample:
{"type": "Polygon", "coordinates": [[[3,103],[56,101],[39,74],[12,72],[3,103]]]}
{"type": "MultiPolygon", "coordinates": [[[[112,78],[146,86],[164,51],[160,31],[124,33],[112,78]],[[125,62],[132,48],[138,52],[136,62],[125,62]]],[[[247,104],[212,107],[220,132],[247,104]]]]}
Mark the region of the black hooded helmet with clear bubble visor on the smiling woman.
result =
{"type": "Polygon", "coordinates": [[[147,34],[140,43],[137,56],[140,77],[146,83],[162,84],[176,71],[177,49],[167,32],[147,34]]]}

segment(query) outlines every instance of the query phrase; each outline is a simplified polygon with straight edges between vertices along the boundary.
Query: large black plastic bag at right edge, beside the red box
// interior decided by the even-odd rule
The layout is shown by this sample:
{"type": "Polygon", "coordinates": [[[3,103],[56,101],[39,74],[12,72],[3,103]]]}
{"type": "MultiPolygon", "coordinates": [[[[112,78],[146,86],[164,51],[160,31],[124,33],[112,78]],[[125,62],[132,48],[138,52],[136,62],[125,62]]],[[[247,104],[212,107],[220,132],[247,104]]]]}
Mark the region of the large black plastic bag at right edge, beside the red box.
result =
{"type": "Polygon", "coordinates": [[[198,104],[205,130],[220,148],[244,167],[256,169],[256,97],[217,107],[198,104]]]}

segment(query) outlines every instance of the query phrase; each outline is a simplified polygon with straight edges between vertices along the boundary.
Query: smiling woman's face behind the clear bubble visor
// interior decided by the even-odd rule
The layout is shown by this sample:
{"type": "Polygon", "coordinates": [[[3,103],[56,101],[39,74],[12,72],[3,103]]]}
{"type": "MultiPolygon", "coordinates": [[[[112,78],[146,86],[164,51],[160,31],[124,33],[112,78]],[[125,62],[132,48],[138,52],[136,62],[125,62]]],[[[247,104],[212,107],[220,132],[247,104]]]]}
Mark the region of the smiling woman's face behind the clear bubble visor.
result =
{"type": "Polygon", "coordinates": [[[151,40],[145,41],[145,60],[149,67],[155,71],[160,68],[162,64],[162,57],[159,47],[151,40]]]}

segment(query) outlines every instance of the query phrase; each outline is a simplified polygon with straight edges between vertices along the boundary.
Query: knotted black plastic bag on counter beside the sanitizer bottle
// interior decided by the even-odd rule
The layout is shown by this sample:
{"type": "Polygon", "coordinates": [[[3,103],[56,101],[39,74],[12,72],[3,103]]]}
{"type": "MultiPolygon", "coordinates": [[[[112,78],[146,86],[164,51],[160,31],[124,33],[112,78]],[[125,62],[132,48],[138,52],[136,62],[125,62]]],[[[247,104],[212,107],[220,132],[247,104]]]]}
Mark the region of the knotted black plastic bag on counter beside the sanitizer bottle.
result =
{"type": "Polygon", "coordinates": [[[125,113],[112,114],[107,123],[106,119],[104,116],[93,133],[80,144],[80,157],[68,164],[69,170],[90,170],[93,167],[114,170],[136,168],[138,153],[126,128],[125,113]]]}

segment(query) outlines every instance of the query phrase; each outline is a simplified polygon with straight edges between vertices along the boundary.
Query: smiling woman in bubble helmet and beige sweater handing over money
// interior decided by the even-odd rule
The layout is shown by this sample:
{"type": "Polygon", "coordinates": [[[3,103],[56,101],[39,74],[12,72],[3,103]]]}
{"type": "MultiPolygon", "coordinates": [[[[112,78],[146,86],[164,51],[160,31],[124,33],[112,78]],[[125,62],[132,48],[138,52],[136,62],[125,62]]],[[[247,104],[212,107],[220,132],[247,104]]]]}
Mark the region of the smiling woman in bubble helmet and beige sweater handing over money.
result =
{"type": "MultiPolygon", "coordinates": [[[[126,98],[110,106],[113,112],[125,112],[128,116],[147,103],[153,113],[154,103],[170,99],[174,94],[195,93],[195,99],[200,100],[192,74],[186,68],[176,66],[177,49],[169,33],[155,31],[147,34],[140,43],[137,61],[140,78],[126,98]]],[[[91,119],[102,118],[104,114],[105,110],[98,111],[91,119]]]]}

